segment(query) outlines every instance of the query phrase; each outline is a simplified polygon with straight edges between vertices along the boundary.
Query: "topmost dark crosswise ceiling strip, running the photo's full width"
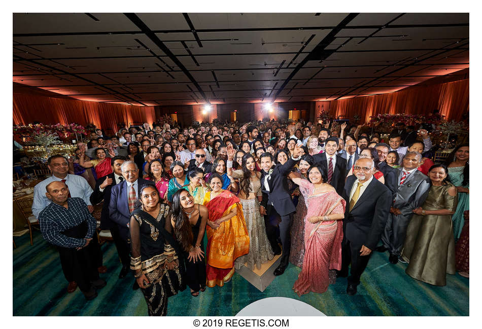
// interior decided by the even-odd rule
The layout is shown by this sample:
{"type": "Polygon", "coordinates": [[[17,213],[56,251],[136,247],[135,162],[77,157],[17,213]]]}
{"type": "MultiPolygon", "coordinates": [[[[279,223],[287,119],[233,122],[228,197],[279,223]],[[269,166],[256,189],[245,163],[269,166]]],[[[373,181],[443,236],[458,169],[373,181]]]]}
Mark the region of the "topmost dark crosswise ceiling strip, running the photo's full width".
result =
{"type": "MultiPolygon", "coordinates": [[[[398,24],[387,26],[390,28],[429,28],[429,27],[468,27],[468,23],[452,24],[398,24]]],[[[381,25],[350,25],[344,29],[378,29],[381,25]]],[[[257,32],[257,31],[297,31],[297,30],[331,30],[336,26],[297,26],[297,27],[259,27],[259,28],[221,28],[221,29],[196,29],[196,32],[257,32]]],[[[152,30],[153,33],[192,33],[192,30],[152,30]]],[[[102,31],[102,32],[54,32],[54,33],[14,33],[18,36],[68,36],[68,35],[119,35],[119,34],[144,34],[143,31],[102,31]]]]}

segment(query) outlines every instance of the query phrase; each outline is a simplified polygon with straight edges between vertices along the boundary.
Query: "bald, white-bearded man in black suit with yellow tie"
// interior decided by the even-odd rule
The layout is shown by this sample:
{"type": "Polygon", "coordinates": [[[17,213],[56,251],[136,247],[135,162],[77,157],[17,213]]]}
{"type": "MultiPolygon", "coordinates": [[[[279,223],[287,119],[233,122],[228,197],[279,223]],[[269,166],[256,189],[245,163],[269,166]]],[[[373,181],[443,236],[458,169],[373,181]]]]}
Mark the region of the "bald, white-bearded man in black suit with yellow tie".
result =
{"type": "Polygon", "coordinates": [[[348,265],[352,264],[347,286],[349,295],[357,293],[360,276],[382,236],[392,203],[390,190],[373,178],[374,166],[371,159],[358,159],[343,191],[347,207],[338,276],[348,276],[348,265]]]}

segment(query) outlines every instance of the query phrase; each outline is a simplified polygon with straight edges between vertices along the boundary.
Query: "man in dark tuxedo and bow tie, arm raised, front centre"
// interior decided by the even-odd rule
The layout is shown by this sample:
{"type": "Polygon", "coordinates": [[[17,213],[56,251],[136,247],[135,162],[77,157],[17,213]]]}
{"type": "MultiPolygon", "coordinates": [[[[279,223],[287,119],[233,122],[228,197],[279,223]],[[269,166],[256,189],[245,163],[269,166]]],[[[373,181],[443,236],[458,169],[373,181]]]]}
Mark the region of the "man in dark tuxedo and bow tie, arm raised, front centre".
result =
{"type": "Polygon", "coordinates": [[[301,158],[301,145],[296,145],[293,155],[285,164],[274,164],[271,153],[263,153],[261,155],[261,168],[263,169],[261,175],[261,190],[263,192],[263,201],[261,202],[260,212],[265,214],[266,233],[274,254],[279,254],[280,247],[276,241],[276,227],[269,222],[269,217],[274,213],[281,216],[280,240],[283,248],[283,256],[281,258],[280,266],[274,270],[274,275],[281,275],[288,267],[290,257],[290,228],[291,228],[291,214],[296,211],[291,195],[288,190],[287,175],[290,173],[293,166],[301,158]]]}

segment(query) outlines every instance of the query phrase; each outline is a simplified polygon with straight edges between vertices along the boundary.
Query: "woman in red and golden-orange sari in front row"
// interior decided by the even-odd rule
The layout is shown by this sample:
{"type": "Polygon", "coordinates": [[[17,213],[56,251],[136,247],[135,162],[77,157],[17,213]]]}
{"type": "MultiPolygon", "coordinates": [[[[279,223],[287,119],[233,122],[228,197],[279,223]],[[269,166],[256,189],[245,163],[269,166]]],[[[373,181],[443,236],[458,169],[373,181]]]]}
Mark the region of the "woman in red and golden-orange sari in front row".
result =
{"type": "Polygon", "coordinates": [[[249,236],[239,199],[221,189],[223,179],[218,173],[211,175],[209,185],[212,191],[206,192],[203,201],[209,212],[206,285],[222,287],[234,274],[236,258],[249,252],[249,236]]]}

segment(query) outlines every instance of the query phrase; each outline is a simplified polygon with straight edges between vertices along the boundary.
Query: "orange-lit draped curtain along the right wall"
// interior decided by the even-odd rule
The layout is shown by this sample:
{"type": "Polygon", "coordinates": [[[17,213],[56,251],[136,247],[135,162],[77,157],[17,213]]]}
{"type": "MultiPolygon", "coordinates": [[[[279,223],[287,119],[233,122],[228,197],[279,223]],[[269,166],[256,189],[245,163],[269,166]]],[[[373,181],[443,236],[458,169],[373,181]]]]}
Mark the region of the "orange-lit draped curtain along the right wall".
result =
{"type": "Polygon", "coordinates": [[[469,109],[469,79],[426,86],[410,87],[389,94],[331,101],[330,113],[361,122],[378,114],[429,114],[439,109],[447,120],[461,121],[469,109]]]}

